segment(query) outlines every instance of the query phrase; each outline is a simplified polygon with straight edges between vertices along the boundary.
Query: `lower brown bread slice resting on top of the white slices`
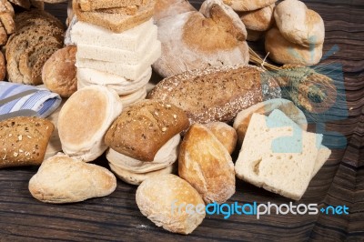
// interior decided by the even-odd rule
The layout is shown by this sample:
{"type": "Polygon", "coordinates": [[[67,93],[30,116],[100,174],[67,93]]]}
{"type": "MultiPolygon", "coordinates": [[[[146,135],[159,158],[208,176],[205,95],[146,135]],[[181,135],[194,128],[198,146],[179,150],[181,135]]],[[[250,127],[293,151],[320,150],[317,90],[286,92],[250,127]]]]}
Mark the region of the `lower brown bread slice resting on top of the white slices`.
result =
{"type": "MultiPolygon", "coordinates": [[[[82,1],[81,1],[82,2],[82,1]]],[[[90,1],[88,1],[90,2],[90,1]]],[[[100,1],[101,3],[104,1],[100,1]]],[[[115,1],[106,1],[107,3],[115,1]]],[[[119,3],[120,1],[116,1],[119,3]]],[[[121,1],[123,2],[123,1],[121,1]]],[[[141,5],[136,12],[136,15],[126,14],[110,14],[96,11],[83,11],[80,7],[80,1],[73,1],[73,10],[77,19],[90,23],[92,25],[98,25],[111,30],[115,33],[121,33],[127,29],[131,29],[137,25],[140,25],[149,20],[154,14],[155,1],[147,1],[147,5],[141,5]]],[[[113,7],[114,5],[108,5],[113,7]]]]}

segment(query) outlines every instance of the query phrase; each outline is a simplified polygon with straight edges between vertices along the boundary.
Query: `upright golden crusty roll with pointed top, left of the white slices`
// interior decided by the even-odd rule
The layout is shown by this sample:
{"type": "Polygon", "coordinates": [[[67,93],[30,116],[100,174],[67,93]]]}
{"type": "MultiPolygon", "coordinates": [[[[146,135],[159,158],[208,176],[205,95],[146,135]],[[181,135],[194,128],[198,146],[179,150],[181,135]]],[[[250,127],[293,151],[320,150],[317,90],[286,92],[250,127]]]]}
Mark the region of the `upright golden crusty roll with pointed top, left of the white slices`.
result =
{"type": "Polygon", "coordinates": [[[184,137],[178,175],[195,187],[206,203],[224,203],[235,193],[231,156],[207,127],[194,124],[184,137]]]}

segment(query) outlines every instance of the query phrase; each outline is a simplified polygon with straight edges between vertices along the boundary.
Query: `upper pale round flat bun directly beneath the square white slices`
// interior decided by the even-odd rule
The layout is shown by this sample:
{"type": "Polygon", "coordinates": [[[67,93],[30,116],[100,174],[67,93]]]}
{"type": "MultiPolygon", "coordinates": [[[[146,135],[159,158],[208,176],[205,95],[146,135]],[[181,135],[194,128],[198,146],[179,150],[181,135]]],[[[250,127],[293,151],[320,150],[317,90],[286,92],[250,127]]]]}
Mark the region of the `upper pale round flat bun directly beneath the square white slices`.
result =
{"type": "Polygon", "coordinates": [[[107,86],[114,89],[119,96],[132,94],[147,85],[152,76],[152,68],[147,70],[135,81],[127,80],[123,76],[116,76],[90,68],[77,68],[77,88],[91,85],[107,86]]]}

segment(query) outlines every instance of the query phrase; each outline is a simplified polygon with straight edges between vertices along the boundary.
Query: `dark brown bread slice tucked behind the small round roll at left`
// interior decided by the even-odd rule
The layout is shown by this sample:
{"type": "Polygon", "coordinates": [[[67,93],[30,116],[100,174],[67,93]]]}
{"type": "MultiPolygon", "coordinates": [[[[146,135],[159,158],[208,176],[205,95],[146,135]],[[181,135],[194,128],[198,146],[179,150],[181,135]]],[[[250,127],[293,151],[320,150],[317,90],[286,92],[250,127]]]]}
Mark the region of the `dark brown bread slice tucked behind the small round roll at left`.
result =
{"type": "Polygon", "coordinates": [[[19,71],[23,75],[24,83],[41,85],[42,68],[45,61],[58,49],[62,48],[60,43],[42,42],[38,45],[28,47],[19,55],[19,71]]]}

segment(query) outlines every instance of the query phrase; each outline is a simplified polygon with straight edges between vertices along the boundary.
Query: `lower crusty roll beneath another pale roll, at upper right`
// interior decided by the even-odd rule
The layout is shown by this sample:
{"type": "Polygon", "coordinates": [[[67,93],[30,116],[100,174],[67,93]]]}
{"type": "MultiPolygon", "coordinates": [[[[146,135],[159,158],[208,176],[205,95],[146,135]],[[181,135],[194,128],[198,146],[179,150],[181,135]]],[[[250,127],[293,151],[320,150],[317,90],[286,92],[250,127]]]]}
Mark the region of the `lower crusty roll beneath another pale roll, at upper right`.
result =
{"type": "Polygon", "coordinates": [[[322,56],[322,45],[312,48],[293,44],[275,27],[268,30],[265,46],[268,57],[279,64],[313,66],[319,63],[322,56]]]}

